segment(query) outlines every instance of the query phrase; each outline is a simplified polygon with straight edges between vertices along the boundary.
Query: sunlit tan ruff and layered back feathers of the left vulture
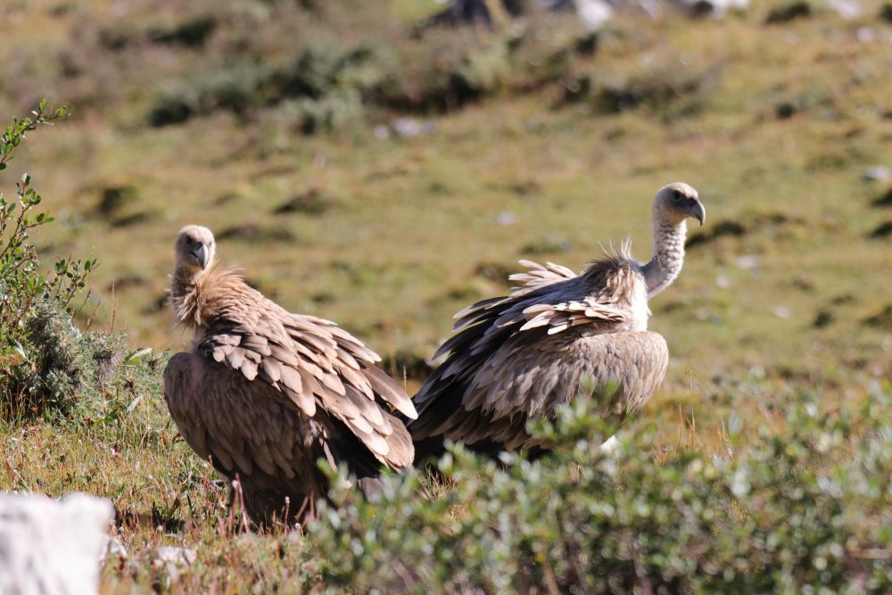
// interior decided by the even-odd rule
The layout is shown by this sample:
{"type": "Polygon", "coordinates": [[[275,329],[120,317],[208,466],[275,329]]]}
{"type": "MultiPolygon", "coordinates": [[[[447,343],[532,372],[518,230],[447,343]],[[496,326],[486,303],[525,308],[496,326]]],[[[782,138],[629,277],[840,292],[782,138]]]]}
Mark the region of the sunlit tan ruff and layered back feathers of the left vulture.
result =
{"type": "Polygon", "coordinates": [[[233,271],[208,271],[174,308],[197,329],[197,352],[269,384],[307,417],[325,409],[388,467],[410,463],[404,431],[384,416],[414,417],[409,397],[376,368],[376,352],[334,322],[286,311],[233,271]]]}

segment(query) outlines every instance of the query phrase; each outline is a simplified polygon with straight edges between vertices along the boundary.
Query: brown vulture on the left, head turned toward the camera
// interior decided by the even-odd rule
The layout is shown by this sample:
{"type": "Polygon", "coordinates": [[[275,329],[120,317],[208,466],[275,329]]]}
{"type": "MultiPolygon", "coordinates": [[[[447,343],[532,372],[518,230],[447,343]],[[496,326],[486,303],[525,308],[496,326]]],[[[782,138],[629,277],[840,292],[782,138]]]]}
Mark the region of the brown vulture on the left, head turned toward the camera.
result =
{"type": "Polygon", "coordinates": [[[374,351],[334,322],[292,314],[232,271],[217,269],[206,227],[175,244],[170,300],[192,350],[164,370],[164,397],[186,442],[230,479],[252,520],[300,517],[327,493],[318,459],[345,464],[364,486],[411,465],[396,415],[416,417],[374,351]],[[396,415],[394,415],[396,412],[396,415]]]}

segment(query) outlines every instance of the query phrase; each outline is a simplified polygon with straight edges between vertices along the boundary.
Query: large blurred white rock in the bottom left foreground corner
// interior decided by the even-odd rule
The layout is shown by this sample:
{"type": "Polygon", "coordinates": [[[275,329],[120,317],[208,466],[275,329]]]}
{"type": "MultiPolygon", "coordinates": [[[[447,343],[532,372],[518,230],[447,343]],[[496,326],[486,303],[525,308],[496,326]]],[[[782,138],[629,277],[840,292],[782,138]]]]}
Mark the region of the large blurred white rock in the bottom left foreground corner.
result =
{"type": "Polygon", "coordinates": [[[113,514],[111,502],[87,494],[0,493],[0,593],[97,593],[113,514]]]}

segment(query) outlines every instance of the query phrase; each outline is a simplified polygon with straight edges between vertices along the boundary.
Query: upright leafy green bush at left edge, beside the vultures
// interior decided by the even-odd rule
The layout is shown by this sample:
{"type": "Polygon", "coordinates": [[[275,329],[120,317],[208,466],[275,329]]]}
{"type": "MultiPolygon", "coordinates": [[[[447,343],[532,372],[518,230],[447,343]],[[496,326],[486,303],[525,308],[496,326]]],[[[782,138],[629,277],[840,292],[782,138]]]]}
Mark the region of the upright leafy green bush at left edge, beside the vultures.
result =
{"type": "MultiPolygon", "coordinates": [[[[33,118],[13,119],[0,137],[0,170],[8,167],[29,132],[67,113],[64,107],[49,111],[41,102],[33,118]]],[[[84,289],[96,260],[62,258],[48,277],[41,272],[31,236],[53,218],[35,212],[42,199],[30,184],[26,173],[16,183],[15,200],[0,194],[0,401],[13,414],[38,411],[38,403],[64,401],[90,376],[76,361],[80,351],[72,351],[78,331],[70,325],[70,315],[62,319],[59,312],[84,289]]],[[[98,359],[106,357],[99,351],[91,352],[98,359]]]]}

